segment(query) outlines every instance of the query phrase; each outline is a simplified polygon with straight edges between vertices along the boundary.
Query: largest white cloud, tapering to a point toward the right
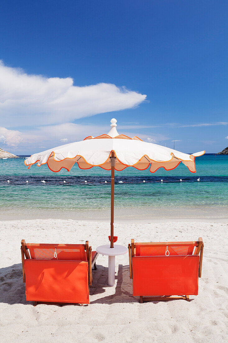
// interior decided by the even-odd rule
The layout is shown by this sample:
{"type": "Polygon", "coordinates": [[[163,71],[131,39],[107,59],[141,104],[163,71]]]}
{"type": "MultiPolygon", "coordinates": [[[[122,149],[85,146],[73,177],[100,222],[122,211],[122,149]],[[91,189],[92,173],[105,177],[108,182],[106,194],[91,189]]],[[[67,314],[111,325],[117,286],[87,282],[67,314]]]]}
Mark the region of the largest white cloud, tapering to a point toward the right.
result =
{"type": "MultiPolygon", "coordinates": [[[[1,124],[45,125],[139,105],[146,95],[114,84],[78,87],[72,78],[29,75],[0,61],[1,124]]],[[[77,80],[76,80],[77,81],[77,80]]]]}

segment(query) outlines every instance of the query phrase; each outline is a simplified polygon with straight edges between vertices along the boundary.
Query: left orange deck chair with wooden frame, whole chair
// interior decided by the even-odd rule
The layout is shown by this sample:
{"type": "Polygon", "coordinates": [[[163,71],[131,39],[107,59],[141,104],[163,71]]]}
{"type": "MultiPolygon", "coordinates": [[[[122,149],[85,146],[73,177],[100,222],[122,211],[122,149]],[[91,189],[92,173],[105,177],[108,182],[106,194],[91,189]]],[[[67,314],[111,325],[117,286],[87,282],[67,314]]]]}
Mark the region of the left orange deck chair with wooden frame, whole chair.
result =
{"type": "Polygon", "coordinates": [[[34,244],[21,241],[26,300],[89,304],[97,252],[86,244],[34,244]]]}

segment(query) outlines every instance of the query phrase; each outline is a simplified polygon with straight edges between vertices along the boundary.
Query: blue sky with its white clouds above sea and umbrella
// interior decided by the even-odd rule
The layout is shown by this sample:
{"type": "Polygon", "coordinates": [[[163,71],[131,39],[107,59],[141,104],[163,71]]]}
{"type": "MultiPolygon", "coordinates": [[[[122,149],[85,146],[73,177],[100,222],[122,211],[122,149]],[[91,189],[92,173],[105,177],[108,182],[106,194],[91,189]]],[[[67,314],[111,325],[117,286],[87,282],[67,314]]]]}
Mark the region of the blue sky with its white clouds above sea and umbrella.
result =
{"type": "Polygon", "coordinates": [[[119,133],[221,151],[227,14],[218,0],[3,2],[0,147],[35,153],[106,133],[114,117],[119,133]]]}

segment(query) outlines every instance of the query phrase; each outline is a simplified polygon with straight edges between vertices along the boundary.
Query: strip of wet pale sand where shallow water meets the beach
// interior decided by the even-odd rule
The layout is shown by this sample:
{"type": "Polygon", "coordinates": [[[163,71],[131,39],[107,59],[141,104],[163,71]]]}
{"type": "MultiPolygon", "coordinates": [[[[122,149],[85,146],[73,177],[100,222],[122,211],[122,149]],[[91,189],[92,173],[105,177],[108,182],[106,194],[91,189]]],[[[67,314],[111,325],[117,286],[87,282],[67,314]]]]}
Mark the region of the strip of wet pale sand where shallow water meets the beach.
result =
{"type": "MultiPolygon", "coordinates": [[[[1,208],[0,221],[62,219],[79,221],[110,221],[110,209],[58,210],[58,209],[15,209],[1,208]]],[[[115,222],[162,222],[162,221],[226,221],[228,206],[163,206],[126,207],[114,209],[115,222]]]]}

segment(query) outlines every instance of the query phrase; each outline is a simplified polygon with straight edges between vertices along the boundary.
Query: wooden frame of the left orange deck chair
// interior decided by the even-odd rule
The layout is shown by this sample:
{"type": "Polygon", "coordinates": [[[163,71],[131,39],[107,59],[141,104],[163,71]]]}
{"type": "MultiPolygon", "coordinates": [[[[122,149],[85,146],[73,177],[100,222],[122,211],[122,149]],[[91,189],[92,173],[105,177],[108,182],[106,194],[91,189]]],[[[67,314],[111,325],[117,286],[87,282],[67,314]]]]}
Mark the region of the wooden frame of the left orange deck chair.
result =
{"type": "MultiPolygon", "coordinates": [[[[89,241],[86,241],[86,244],[84,244],[84,249],[86,251],[87,261],[88,261],[88,280],[89,280],[89,287],[92,285],[92,267],[94,267],[94,270],[97,269],[96,266],[96,260],[98,258],[98,253],[94,255],[92,259],[92,248],[89,246],[89,241]]],[[[29,255],[29,249],[27,248],[27,243],[24,239],[21,241],[21,260],[22,260],[22,274],[23,274],[23,283],[25,283],[25,264],[24,261],[26,259],[31,259],[29,255]]],[[[53,304],[53,303],[51,303],[53,304]]],[[[37,301],[34,301],[34,306],[37,305],[37,301]]]]}

